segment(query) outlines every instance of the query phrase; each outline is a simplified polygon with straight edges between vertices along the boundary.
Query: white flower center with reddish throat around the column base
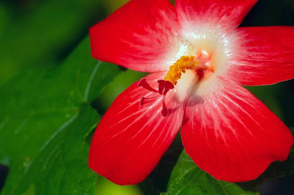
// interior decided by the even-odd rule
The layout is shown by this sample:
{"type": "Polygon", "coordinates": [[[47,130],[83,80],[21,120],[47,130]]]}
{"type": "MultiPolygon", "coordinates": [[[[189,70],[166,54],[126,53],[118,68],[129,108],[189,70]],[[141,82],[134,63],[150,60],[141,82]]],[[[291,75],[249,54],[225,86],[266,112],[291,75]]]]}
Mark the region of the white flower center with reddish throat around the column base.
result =
{"type": "Polygon", "coordinates": [[[216,77],[224,75],[230,66],[229,59],[235,49],[232,43],[236,38],[233,33],[224,34],[218,28],[211,30],[199,26],[193,32],[185,33],[184,40],[179,42],[180,47],[172,54],[177,57],[193,55],[198,65],[193,71],[182,73],[173,90],[176,90],[180,101],[190,94],[195,97],[209,96],[218,87],[216,77]]]}

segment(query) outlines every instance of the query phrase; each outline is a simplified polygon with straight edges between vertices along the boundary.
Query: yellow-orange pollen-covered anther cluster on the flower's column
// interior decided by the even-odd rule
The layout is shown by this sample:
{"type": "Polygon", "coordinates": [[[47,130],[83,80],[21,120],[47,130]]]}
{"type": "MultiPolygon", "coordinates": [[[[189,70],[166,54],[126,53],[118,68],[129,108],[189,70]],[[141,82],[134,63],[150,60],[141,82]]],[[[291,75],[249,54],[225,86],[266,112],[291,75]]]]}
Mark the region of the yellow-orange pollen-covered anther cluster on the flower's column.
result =
{"type": "Polygon", "coordinates": [[[170,70],[167,75],[164,77],[165,80],[169,80],[172,84],[176,85],[177,80],[181,78],[182,73],[186,73],[186,70],[193,70],[198,62],[194,61],[195,57],[193,55],[189,56],[181,56],[180,59],[173,63],[170,66],[170,70]]]}

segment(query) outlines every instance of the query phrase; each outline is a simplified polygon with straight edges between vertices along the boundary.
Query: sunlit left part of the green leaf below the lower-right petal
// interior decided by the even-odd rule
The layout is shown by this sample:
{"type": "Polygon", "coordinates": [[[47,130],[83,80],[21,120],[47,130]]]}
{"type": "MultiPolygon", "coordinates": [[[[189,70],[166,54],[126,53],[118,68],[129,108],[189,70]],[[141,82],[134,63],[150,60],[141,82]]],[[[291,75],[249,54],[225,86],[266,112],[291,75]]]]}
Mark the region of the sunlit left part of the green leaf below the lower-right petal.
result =
{"type": "Polygon", "coordinates": [[[258,195],[234,183],[218,181],[202,171],[183,150],[175,164],[166,193],[161,195],[258,195]]]}

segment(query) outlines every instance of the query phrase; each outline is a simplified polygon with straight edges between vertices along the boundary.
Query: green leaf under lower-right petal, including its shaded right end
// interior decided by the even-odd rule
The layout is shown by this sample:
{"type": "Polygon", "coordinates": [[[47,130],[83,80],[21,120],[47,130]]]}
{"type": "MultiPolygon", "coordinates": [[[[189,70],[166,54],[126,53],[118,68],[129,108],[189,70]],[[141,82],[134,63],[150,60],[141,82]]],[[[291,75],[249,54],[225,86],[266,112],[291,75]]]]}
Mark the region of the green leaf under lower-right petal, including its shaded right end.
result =
{"type": "Polygon", "coordinates": [[[202,171],[183,150],[172,169],[167,192],[161,195],[258,195],[258,189],[263,182],[291,174],[293,171],[294,150],[288,160],[272,163],[256,180],[228,183],[216,180],[202,171]]]}

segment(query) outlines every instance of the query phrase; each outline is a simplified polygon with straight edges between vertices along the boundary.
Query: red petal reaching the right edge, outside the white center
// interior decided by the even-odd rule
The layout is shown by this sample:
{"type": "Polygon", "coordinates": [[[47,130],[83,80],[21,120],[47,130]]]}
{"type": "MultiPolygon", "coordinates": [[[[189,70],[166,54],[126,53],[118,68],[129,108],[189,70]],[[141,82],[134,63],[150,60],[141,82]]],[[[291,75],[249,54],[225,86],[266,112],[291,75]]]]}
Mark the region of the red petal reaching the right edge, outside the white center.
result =
{"type": "Polygon", "coordinates": [[[229,68],[241,85],[269,85],[294,78],[294,26],[237,28],[238,55],[229,68]]]}

